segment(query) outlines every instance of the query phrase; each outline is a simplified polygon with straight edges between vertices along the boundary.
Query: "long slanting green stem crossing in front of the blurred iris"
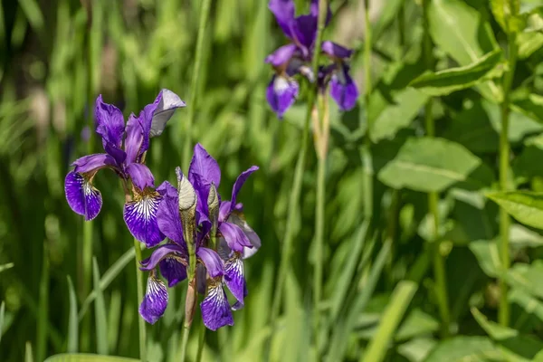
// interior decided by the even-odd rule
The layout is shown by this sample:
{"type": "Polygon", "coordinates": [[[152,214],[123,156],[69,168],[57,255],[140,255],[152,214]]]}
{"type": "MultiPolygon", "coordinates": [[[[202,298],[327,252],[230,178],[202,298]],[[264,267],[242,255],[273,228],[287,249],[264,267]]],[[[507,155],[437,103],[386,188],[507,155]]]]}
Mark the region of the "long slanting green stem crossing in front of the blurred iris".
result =
{"type": "MultiPolygon", "coordinates": [[[[317,28],[317,40],[315,42],[315,50],[313,54],[313,64],[312,70],[313,74],[317,74],[319,71],[319,54],[320,54],[320,44],[322,43],[322,31],[324,29],[324,24],[327,14],[327,1],[319,0],[319,26],[317,28]]],[[[287,214],[287,226],[285,230],[285,239],[282,243],[281,248],[281,262],[279,265],[279,275],[277,280],[277,286],[275,293],[273,295],[273,302],[271,303],[271,313],[270,313],[270,324],[271,328],[274,327],[276,319],[279,316],[279,310],[281,309],[281,300],[282,300],[282,290],[284,283],[287,279],[287,275],[291,271],[291,253],[292,253],[292,241],[294,239],[294,223],[296,220],[296,214],[299,213],[300,209],[300,192],[301,192],[301,181],[303,178],[303,172],[305,169],[306,154],[308,151],[308,141],[310,135],[310,119],[311,113],[313,112],[313,106],[315,105],[315,98],[317,95],[317,84],[313,83],[313,88],[310,90],[309,99],[308,99],[308,110],[306,113],[306,118],[304,120],[303,133],[301,135],[301,147],[300,153],[298,154],[298,160],[296,161],[296,168],[294,170],[294,181],[292,185],[291,197],[289,199],[289,211],[287,214]]],[[[270,347],[271,347],[271,337],[267,341],[267,351],[266,358],[270,358],[270,347]]]]}

